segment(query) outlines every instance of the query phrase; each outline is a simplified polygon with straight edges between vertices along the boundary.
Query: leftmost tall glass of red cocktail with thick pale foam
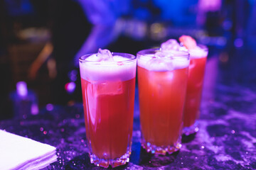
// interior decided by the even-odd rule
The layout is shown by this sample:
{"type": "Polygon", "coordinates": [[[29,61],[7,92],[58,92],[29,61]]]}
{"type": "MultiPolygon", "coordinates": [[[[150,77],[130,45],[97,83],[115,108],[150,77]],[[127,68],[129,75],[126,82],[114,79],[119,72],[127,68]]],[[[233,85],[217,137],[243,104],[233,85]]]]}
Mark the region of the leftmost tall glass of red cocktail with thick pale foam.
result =
{"type": "Polygon", "coordinates": [[[98,61],[98,54],[80,58],[86,137],[90,161],[115,167],[131,154],[137,61],[124,53],[98,61]]]}

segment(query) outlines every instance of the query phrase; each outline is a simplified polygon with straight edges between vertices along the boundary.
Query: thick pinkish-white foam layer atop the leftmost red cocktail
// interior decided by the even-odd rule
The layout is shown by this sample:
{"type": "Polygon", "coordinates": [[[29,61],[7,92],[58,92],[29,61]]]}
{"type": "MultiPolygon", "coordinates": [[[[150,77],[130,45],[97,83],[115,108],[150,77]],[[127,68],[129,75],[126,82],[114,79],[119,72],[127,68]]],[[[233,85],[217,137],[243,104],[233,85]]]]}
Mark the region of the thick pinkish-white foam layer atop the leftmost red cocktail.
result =
{"type": "Polygon", "coordinates": [[[85,60],[80,60],[82,79],[87,81],[126,81],[135,77],[136,60],[114,55],[110,61],[100,61],[97,55],[90,55],[85,60]]]}

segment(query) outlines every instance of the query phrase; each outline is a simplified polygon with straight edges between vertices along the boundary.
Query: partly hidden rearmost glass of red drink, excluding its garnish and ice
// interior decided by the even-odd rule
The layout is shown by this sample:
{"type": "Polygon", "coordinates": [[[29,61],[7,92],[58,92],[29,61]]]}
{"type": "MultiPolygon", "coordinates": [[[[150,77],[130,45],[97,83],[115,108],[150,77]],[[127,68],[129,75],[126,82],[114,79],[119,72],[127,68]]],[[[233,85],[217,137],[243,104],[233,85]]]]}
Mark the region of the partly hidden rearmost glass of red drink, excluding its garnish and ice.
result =
{"type": "Polygon", "coordinates": [[[190,135],[198,131],[196,120],[199,118],[200,114],[203,76],[208,48],[203,45],[198,45],[196,49],[188,50],[188,52],[191,56],[191,62],[188,67],[188,86],[183,118],[183,133],[185,135],[190,135]]]}

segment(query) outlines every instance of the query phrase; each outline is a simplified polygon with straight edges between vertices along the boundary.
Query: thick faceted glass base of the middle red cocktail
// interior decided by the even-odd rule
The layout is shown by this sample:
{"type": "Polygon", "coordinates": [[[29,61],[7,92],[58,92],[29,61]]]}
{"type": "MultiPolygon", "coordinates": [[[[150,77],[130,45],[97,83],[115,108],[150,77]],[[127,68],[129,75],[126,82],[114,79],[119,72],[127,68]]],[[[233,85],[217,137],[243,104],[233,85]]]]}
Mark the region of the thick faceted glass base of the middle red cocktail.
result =
{"type": "Polygon", "coordinates": [[[141,140],[142,147],[146,150],[146,152],[149,152],[151,154],[163,154],[165,155],[166,153],[172,154],[174,152],[177,152],[179,149],[181,149],[181,137],[178,137],[178,141],[176,142],[175,145],[172,146],[163,146],[163,147],[158,147],[156,145],[151,145],[151,143],[146,142],[144,138],[141,140]]]}

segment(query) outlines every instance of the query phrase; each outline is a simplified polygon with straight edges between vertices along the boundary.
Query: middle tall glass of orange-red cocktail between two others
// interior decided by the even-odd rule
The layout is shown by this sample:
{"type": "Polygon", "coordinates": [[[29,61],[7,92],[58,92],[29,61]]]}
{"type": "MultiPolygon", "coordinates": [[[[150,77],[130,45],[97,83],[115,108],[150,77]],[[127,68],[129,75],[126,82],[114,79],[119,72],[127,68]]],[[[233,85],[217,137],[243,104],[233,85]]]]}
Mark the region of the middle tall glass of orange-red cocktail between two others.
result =
{"type": "Polygon", "coordinates": [[[181,147],[188,56],[154,49],[137,54],[142,147],[147,152],[166,154],[181,147]]]}

